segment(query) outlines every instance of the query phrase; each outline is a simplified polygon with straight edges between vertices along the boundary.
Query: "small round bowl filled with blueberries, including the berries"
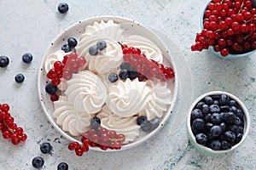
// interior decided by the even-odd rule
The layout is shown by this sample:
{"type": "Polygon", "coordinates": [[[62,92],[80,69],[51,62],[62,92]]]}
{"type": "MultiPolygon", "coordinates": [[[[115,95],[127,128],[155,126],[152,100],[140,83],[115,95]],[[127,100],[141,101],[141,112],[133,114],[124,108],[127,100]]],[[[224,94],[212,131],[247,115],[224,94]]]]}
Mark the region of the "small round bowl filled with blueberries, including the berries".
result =
{"type": "Polygon", "coordinates": [[[247,138],[250,116],[235,95],[212,91],[191,105],[187,118],[188,137],[197,150],[218,155],[235,150],[247,138]]]}

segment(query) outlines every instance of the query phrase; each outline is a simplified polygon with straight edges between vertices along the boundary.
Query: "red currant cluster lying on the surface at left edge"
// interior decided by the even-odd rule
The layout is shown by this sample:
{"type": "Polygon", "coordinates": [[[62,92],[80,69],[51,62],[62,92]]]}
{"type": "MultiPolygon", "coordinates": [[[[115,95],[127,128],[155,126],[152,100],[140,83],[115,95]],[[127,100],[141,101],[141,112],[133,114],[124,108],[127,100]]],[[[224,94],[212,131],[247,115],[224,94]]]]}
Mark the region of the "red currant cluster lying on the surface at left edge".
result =
{"type": "Polygon", "coordinates": [[[0,129],[4,139],[11,139],[13,144],[26,141],[27,136],[22,127],[17,127],[14,117],[9,114],[9,105],[0,105],[0,129]]]}

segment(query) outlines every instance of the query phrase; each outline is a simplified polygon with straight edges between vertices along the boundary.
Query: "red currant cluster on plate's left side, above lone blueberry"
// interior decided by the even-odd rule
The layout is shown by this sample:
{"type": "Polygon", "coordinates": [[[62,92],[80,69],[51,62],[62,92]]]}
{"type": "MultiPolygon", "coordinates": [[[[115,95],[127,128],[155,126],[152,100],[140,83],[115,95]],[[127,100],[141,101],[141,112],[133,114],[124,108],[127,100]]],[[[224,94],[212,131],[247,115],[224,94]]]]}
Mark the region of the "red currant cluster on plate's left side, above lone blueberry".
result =
{"type": "MultiPolygon", "coordinates": [[[[79,68],[83,67],[85,63],[84,57],[78,57],[76,53],[67,54],[62,61],[55,61],[54,68],[50,69],[46,76],[52,85],[57,86],[61,83],[61,78],[70,80],[73,73],[78,73],[79,68]]],[[[58,99],[58,96],[52,94],[50,99],[55,101],[58,99]]]]}

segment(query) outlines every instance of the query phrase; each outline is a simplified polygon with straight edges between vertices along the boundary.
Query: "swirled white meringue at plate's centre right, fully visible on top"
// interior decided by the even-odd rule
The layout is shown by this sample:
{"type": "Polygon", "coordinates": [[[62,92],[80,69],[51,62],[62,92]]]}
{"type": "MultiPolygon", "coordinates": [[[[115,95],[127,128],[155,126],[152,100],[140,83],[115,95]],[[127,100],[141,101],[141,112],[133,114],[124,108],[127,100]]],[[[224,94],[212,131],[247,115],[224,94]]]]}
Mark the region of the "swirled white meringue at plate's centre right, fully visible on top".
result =
{"type": "Polygon", "coordinates": [[[119,80],[108,88],[106,104],[116,116],[129,117],[142,111],[150,99],[150,88],[146,82],[139,82],[137,78],[131,82],[127,78],[125,82],[119,80]]]}

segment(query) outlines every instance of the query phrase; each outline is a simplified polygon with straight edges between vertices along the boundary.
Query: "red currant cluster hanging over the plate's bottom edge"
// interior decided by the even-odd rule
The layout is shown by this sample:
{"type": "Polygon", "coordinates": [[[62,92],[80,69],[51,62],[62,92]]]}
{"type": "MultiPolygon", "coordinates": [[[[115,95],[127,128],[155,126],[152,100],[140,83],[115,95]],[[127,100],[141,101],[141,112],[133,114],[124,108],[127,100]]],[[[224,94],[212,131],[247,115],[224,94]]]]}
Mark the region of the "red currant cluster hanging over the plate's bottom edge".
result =
{"type": "Polygon", "coordinates": [[[81,142],[73,142],[68,144],[69,150],[75,150],[77,156],[82,156],[84,152],[91,147],[100,147],[102,150],[120,150],[122,143],[125,141],[124,134],[117,134],[114,131],[108,131],[106,128],[98,127],[90,128],[86,133],[83,133],[81,142]]]}

